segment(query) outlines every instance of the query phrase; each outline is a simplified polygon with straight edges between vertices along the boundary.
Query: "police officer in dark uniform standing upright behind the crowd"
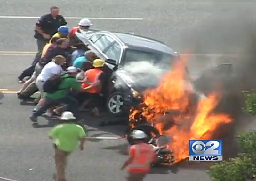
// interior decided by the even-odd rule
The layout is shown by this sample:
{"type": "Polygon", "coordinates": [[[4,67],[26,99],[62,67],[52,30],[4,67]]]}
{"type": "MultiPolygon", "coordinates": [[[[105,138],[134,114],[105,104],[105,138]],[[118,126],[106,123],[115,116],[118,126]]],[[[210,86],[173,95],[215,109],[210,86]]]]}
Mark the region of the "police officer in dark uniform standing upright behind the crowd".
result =
{"type": "Polygon", "coordinates": [[[50,8],[50,14],[45,14],[38,19],[34,35],[38,51],[32,65],[25,70],[26,73],[18,77],[19,83],[23,83],[24,77],[32,75],[35,65],[41,57],[44,46],[49,42],[52,35],[58,32],[58,28],[62,25],[67,25],[67,22],[63,16],[59,14],[59,8],[57,6],[52,6],[50,8]]]}

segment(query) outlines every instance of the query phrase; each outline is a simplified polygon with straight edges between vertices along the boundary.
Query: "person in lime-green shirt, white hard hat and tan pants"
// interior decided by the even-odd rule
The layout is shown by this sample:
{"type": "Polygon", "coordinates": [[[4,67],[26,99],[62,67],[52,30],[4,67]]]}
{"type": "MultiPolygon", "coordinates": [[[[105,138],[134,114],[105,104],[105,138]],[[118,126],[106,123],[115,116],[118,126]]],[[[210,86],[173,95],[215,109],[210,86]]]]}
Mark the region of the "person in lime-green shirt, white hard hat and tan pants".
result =
{"type": "Polygon", "coordinates": [[[55,139],[55,165],[57,172],[57,181],[65,181],[65,168],[67,166],[67,157],[79,144],[80,150],[84,149],[85,131],[75,124],[72,120],[76,118],[72,112],[65,111],[62,113],[61,120],[63,124],[55,126],[50,132],[50,139],[55,139]]]}

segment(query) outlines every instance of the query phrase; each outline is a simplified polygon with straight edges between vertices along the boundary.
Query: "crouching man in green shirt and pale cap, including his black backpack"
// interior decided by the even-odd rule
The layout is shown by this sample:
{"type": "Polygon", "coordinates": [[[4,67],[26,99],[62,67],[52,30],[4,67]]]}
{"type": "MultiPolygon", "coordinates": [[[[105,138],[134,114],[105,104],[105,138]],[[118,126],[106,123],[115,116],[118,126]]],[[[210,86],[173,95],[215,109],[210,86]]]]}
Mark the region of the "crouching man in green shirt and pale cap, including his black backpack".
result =
{"type": "Polygon", "coordinates": [[[29,117],[34,127],[38,126],[37,117],[56,104],[68,105],[68,110],[78,117],[78,102],[75,98],[69,96],[71,89],[81,89],[81,84],[76,82],[77,72],[78,70],[71,66],[67,68],[67,74],[54,75],[44,83],[44,104],[29,117]]]}

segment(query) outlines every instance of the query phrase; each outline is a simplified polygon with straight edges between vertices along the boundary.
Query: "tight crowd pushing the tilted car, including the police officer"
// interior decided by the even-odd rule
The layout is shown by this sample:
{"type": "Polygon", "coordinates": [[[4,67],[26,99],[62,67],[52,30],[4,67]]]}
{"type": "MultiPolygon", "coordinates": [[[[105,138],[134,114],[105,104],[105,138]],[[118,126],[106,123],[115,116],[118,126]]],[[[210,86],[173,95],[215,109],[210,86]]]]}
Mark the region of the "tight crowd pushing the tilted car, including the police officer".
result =
{"type": "Polygon", "coordinates": [[[89,30],[92,23],[84,18],[71,30],[66,25],[56,6],[51,7],[50,14],[39,18],[34,35],[38,52],[32,65],[18,77],[19,83],[23,83],[17,93],[19,99],[27,101],[35,92],[40,92],[30,116],[34,126],[37,117],[44,112],[47,116],[60,116],[61,112],[69,110],[77,117],[78,111],[91,109],[93,115],[100,116],[99,107],[103,107],[101,88],[106,82],[102,70],[105,62],[76,41],[75,34],[79,29],[89,30]],[[24,82],[26,77],[29,79],[24,82]],[[45,91],[44,87],[53,87],[52,84],[58,84],[56,90],[45,91]]]}

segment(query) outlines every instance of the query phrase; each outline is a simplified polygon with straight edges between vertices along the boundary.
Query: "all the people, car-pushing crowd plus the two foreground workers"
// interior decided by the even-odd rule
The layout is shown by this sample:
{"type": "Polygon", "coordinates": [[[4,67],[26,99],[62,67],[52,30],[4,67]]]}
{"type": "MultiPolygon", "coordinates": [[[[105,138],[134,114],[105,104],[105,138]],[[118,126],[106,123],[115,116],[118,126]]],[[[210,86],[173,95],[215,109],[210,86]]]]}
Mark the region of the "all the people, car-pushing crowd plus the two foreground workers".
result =
{"type": "MultiPolygon", "coordinates": [[[[38,116],[45,112],[49,117],[58,115],[64,121],[50,133],[50,139],[56,139],[57,181],[65,180],[67,156],[76,149],[78,142],[83,150],[86,133],[76,124],[80,119],[79,112],[89,109],[93,115],[100,116],[99,108],[104,105],[103,88],[107,83],[104,60],[80,43],[75,34],[80,29],[89,30],[90,20],[81,19],[71,30],[66,25],[56,6],[36,22],[34,37],[38,52],[31,66],[18,77],[18,82],[23,85],[17,93],[19,99],[27,101],[39,91],[40,96],[29,117],[34,127],[38,126],[38,116]],[[24,80],[26,77],[29,78],[24,80]]],[[[130,165],[127,180],[142,180],[154,160],[152,148],[144,143],[146,136],[140,130],[134,132],[138,144],[130,148],[130,157],[121,168],[130,165]]]]}

